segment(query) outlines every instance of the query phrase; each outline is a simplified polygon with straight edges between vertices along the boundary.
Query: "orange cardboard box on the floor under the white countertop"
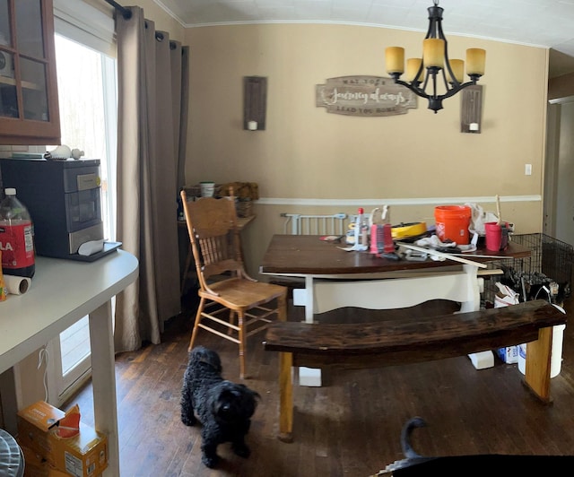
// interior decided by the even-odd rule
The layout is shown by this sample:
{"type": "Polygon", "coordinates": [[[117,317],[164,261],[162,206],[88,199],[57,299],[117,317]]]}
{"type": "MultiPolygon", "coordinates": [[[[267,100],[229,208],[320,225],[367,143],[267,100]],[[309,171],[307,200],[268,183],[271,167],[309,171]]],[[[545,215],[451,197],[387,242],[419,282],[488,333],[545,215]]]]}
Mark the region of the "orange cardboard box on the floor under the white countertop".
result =
{"type": "Polygon", "coordinates": [[[44,401],[18,412],[18,440],[58,471],[75,477],[95,477],[108,466],[108,439],[80,422],[72,438],[58,437],[65,413],[44,401]]]}

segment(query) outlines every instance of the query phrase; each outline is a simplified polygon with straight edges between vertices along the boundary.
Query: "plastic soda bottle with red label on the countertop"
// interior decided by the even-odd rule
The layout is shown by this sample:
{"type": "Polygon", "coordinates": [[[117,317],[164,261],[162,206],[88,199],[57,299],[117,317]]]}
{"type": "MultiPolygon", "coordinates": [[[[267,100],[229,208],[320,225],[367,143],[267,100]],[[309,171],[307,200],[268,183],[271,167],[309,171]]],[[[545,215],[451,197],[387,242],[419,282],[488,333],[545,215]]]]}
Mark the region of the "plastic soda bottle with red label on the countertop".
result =
{"type": "Polygon", "coordinates": [[[0,249],[2,271],[6,275],[31,278],[36,271],[34,227],[30,212],[16,197],[16,189],[7,187],[0,202],[0,249]]]}

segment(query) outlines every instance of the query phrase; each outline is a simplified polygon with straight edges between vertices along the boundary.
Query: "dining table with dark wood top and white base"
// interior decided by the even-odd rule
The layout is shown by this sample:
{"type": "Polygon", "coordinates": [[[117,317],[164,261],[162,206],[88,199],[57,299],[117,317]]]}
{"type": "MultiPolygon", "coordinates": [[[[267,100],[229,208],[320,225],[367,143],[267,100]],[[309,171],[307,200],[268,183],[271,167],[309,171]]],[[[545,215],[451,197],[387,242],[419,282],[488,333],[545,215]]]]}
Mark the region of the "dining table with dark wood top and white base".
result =
{"type": "MultiPolygon", "coordinates": [[[[316,235],[274,235],[259,272],[304,279],[305,287],[293,291],[293,304],[305,307],[305,320],[311,323],[316,314],[336,308],[406,308],[431,299],[459,302],[461,312],[476,311],[483,274],[500,273],[486,264],[530,256],[529,248],[512,241],[501,251],[479,245],[474,252],[422,261],[393,260],[344,247],[316,235]]],[[[493,366],[491,351],[469,358],[476,369],[493,366]]]]}

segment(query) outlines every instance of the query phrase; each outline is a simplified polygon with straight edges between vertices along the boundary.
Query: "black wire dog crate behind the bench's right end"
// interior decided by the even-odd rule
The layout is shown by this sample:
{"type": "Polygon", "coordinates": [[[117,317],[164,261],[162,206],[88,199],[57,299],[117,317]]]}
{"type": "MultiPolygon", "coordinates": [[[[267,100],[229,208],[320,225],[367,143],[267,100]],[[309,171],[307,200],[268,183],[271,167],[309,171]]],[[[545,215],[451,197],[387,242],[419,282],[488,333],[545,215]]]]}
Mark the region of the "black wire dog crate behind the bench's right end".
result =
{"type": "Polygon", "coordinates": [[[511,240],[530,248],[530,256],[503,259],[489,265],[489,268],[500,268],[503,275],[494,275],[491,277],[491,283],[488,286],[485,284],[485,303],[493,302],[494,293],[497,291],[495,282],[501,282],[517,291],[520,301],[549,298],[548,292],[542,287],[550,289],[552,282],[558,285],[558,301],[570,297],[574,247],[544,233],[515,234],[511,236],[511,240]]]}

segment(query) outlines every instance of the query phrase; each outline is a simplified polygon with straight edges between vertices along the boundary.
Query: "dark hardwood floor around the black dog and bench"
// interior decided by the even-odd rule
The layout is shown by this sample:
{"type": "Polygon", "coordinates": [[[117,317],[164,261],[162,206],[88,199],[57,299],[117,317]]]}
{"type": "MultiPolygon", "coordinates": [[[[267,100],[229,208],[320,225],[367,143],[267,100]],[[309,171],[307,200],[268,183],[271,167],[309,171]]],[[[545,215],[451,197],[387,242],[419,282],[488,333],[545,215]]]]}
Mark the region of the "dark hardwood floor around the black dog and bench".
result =
{"type": "MultiPolygon", "coordinates": [[[[565,308],[572,308],[570,301],[565,308]]],[[[353,310],[345,315],[359,313],[373,314],[353,310]]],[[[262,396],[248,435],[252,454],[243,459],[222,445],[221,464],[207,469],[201,463],[199,428],[179,420],[191,316],[190,311],[170,320],[161,344],[117,356],[122,477],[366,477],[404,457],[400,431],[416,415],[428,423],[413,432],[413,447],[422,455],[574,455],[574,327],[564,332],[561,373],[552,378],[552,405],[526,391],[516,364],[500,360],[480,371],[465,356],[331,371],[324,374],[325,386],[295,388],[291,444],[276,438],[278,360],[276,353],[263,350],[261,335],[249,341],[252,378],[245,381],[262,396]]],[[[292,311],[291,319],[301,317],[300,310],[292,311]]],[[[204,331],[198,344],[219,351],[224,377],[238,380],[235,344],[204,331]]],[[[93,425],[90,384],[72,403],[79,403],[83,421],[93,425]]]]}

